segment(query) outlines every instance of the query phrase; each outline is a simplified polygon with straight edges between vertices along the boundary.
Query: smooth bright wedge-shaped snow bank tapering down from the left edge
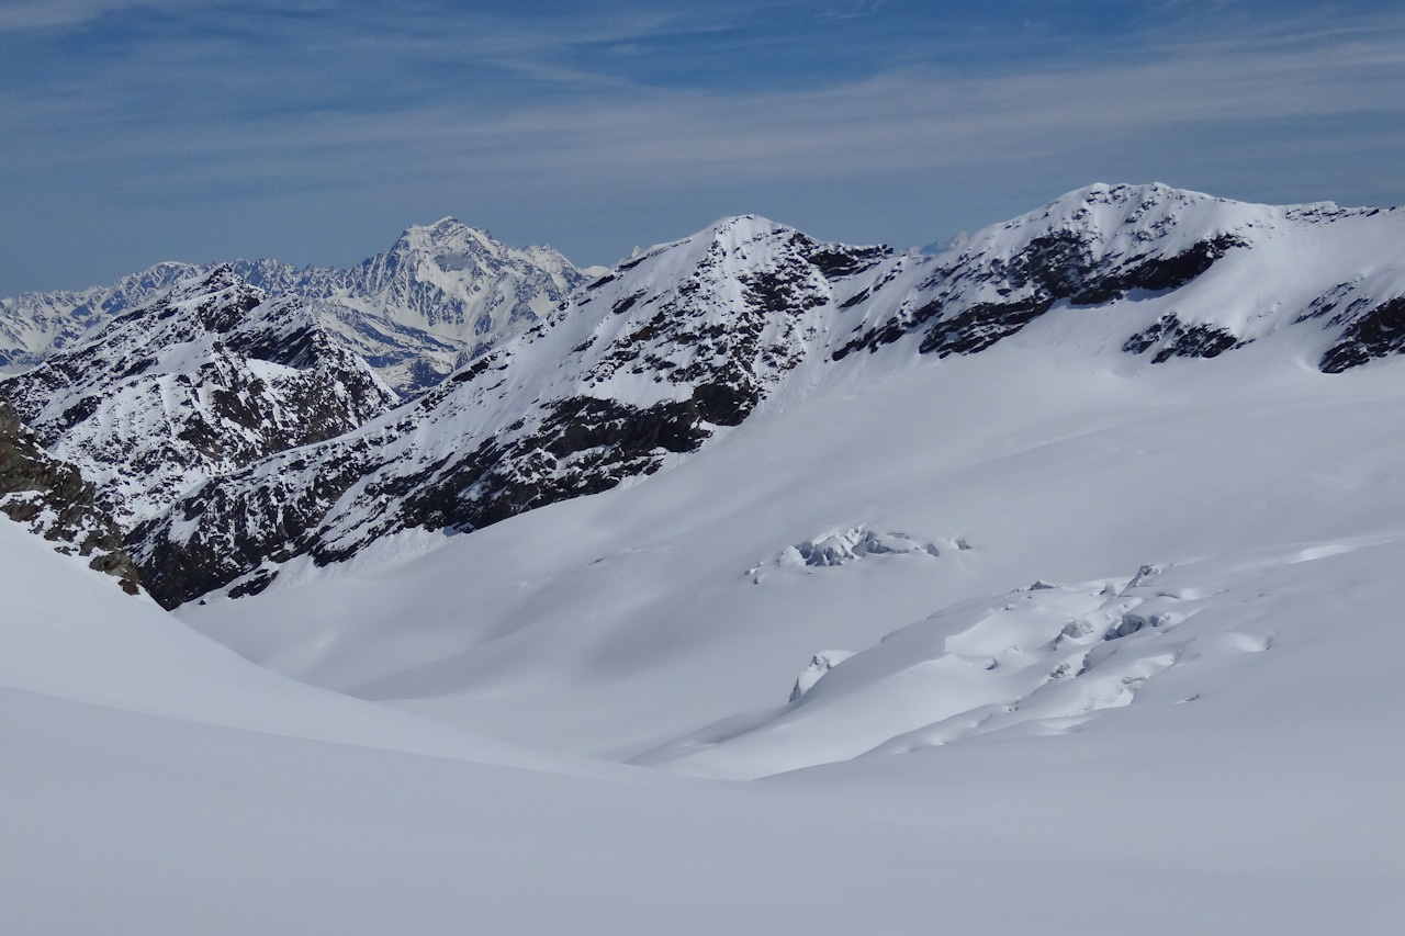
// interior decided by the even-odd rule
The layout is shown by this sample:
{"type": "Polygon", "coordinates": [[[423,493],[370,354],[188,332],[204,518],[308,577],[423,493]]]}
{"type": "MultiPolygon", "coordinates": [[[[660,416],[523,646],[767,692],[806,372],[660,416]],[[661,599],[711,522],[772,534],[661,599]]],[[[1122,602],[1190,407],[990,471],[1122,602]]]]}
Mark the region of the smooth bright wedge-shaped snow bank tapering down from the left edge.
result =
{"type": "Polygon", "coordinates": [[[11,704],[42,696],[287,738],[561,766],[254,666],[6,519],[0,519],[0,582],[6,592],[0,690],[11,704]]]}

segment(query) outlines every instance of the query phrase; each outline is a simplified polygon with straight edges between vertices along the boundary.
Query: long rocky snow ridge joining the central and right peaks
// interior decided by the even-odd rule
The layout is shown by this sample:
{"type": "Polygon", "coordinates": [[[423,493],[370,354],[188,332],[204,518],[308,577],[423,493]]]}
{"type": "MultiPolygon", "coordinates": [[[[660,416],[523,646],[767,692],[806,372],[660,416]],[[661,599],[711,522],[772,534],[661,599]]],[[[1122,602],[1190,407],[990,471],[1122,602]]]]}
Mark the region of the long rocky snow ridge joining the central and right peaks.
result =
{"type": "Polygon", "coordinates": [[[1165,186],[1092,186],[934,257],[724,219],[620,264],[406,408],[191,490],[131,548],[167,603],[259,589],[296,557],[344,561],[653,474],[781,391],[1026,330],[1128,364],[1272,342],[1336,372],[1402,347],[1402,230],[1399,211],[1165,186]]]}

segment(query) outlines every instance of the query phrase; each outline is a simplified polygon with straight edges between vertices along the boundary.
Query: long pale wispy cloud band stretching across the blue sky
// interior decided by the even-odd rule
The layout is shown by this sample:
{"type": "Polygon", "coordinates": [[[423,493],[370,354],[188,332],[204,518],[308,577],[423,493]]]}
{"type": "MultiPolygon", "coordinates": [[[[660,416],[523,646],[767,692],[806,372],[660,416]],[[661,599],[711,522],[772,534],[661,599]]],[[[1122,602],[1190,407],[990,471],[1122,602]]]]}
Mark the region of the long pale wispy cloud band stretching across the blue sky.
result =
{"type": "Polygon", "coordinates": [[[251,134],[219,115],[176,114],[171,128],[190,121],[198,132],[132,135],[96,156],[140,157],[157,149],[230,173],[237,167],[292,178],[311,155],[336,171],[355,164],[348,153],[395,149],[417,171],[458,164],[521,176],[524,187],[542,184],[544,173],[669,187],[683,176],[823,180],[1019,163],[1090,141],[1116,146],[1117,138],[1179,136],[1194,128],[1248,134],[1284,118],[1349,115],[1405,115],[1405,49],[1395,35],[1343,35],[1309,55],[1281,41],[1241,46],[1231,58],[1210,42],[1180,45],[1155,60],[1066,63],[1017,74],[908,69],[799,91],[615,87],[587,101],[510,108],[468,98],[391,112],[295,110],[254,119],[251,134]]]}

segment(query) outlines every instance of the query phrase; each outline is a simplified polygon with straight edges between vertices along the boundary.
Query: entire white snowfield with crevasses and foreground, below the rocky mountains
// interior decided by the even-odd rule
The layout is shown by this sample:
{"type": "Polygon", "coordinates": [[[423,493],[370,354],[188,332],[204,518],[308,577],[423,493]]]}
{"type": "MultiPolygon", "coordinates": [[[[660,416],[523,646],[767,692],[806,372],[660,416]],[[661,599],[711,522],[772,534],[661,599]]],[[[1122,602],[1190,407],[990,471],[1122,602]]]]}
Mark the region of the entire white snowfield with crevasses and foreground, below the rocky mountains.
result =
{"type": "Polygon", "coordinates": [[[1401,932],[1405,361],[1132,302],[174,616],[0,526],[0,930],[1401,932]]]}

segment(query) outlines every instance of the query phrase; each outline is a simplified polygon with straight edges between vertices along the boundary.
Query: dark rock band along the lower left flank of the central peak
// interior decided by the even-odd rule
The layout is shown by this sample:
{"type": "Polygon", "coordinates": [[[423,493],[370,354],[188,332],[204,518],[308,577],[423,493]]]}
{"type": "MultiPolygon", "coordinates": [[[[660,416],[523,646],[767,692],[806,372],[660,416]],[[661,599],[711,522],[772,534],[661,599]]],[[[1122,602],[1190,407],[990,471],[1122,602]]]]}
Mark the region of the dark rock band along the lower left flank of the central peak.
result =
{"type": "Polygon", "coordinates": [[[251,593],[273,578],[259,569],[296,555],[340,562],[398,530],[475,530],[653,474],[669,453],[695,451],[708,438],[707,413],[718,406],[711,389],[643,409],[587,396],[558,401],[530,434],[489,437],[409,472],[388,471],[391,433],[336,440],[313,460],[289,453],[212,479],[136,527],[128,542],[148,590],[167,607],[250,573],[237,587],[251,593]],[[339,503],[368,479],[360,498],[339,503]],[[333,507],[367,516],[334,535],[329,527],[346,517],[329,516],[333,507]],[[183,530],[192,533],[183,538],[183,530]]]}

